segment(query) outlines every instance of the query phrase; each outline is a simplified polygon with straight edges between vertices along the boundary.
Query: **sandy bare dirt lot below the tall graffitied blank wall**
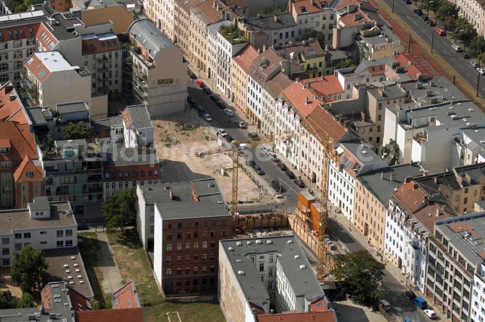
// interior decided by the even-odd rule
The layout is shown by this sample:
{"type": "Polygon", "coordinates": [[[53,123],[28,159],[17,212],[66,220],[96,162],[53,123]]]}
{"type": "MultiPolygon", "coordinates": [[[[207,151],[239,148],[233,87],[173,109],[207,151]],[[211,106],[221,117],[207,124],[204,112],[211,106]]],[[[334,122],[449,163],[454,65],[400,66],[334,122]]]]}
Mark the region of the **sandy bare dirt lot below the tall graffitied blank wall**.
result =
{"type": "MultiPolygon", "coordinates": [[[[181,182],[215,177],[226,201],[231,200],[232,161],[229,153],[218,153],[202,158],[194,152],[208,150],[221,143],[216,141],[213,129],[207,126],[193,111],[173,113],[153,118],[154,141],[161,162],[162,182],[181,182]],[[180,127],[182,125],[182,128],[180,127]],[[225,175],[220,167],[225,169],[225,175]]],[[[260,189],[243,171],[238,171],[238,200],[257,203],[260,189]]],[[[261,202],[270,203],[271,195],[261,202]]]]}

